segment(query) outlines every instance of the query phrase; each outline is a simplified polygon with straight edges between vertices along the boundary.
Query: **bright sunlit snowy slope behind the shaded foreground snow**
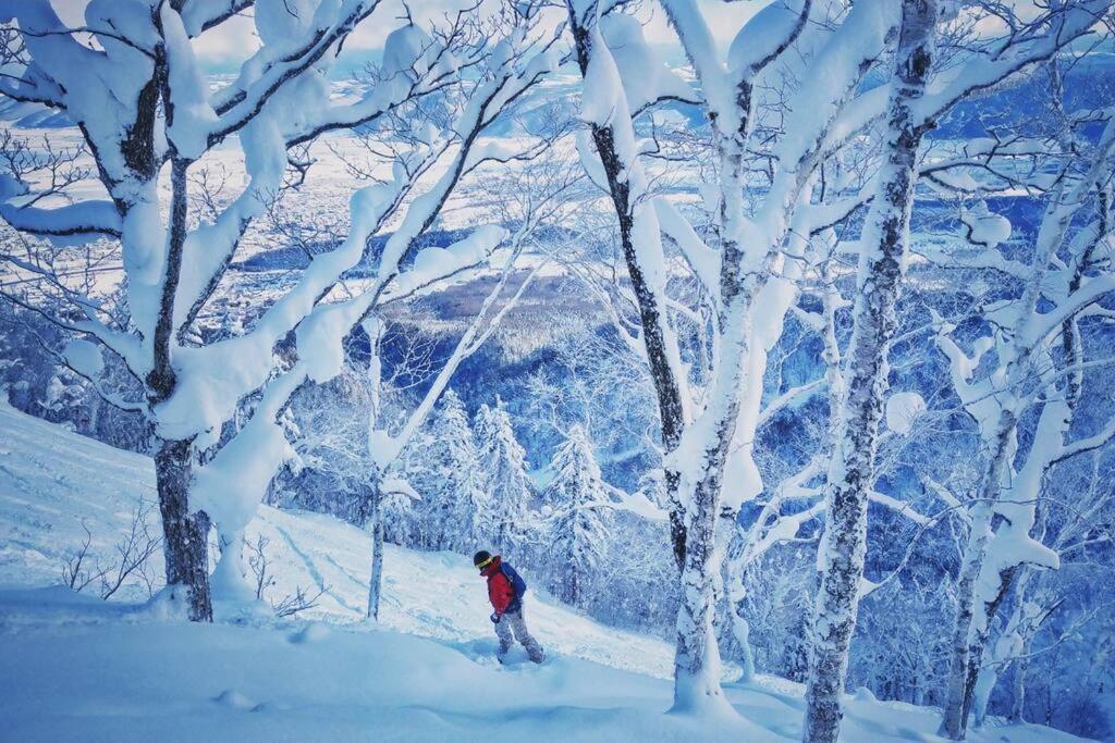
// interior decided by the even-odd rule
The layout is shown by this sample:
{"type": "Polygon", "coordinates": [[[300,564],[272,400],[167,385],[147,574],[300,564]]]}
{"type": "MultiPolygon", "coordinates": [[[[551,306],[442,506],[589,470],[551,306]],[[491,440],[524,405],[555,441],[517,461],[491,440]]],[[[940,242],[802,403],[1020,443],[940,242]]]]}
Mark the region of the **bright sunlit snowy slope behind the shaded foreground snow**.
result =
{"type": "MultiPolygon", "coordinates": [[[[62,561],[80,546],[83,524],[93,534],[93,550],[107,561],[128,528],[135,502],[155,497],[154,481],[149,458],[0,405],[0,585],[58,583],[62,561]]],[[[268,540],[269,573],[275,579],[265,598],[278,602],[298,587],[311,594],[324,589],[319,606],[303,616],[336,623],[363,618],[368,535],[329,516],[266,506],[260,507],[246,540],[255,544],[260,535],[268,540]]],[[[162,559],[162,550],[152,556],[159,576],[162,559]]],[[[387,627],[462,643],[492,634],[483,581],[465,556],[387,545],[384,583],[380,618],[387,627]]],[[[669,676],[672,651],[666,643],[603,627],[535,587],[531,593],[532,625],[552,637],[559,652],[669,676]]],[[[124,594],[133,599],[147,596],[136,581],[124,594]]]]}

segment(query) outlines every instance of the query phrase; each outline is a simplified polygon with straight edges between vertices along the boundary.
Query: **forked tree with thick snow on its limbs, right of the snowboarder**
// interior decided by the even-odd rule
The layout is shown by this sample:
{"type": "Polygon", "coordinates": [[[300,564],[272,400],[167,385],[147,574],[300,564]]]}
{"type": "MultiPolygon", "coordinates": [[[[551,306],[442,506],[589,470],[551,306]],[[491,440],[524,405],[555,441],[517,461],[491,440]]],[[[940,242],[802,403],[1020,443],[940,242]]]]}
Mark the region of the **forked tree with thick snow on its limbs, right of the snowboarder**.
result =
{"type": "MultiPolygon", "coordinates": [[[[683,598],[675,708],[723,711],[712,629],[723,555],[717,542],[735,532],[743,502],[762,491],[752,450],[766,354],[782,334],[801,272],[787,255],[799,254],[802,241],[862,203],[853,196],[811,204],[821,166],[881,111],[878,91],[856,95],[856,89],[884,49],[891,13],[885,3],[856,3],[842,17],[837,3],[777,2],[744,26],[724,60],[696,3],[662,4],[696,72],[699,95],[661,69],[632,18],[594,2],[568,7],[585,78],[582,117],[591,125],[599,158],[583,159],[614,206],[639,309],[636,332],[623,332],[644,351],[659,400],[683,598]],[[789,75],[786,60],[793,60],[789,75]],[[759,146],[753,136],[766,115],[770,96],[765,90],[784,94],[788,113],[784,126],[764,133],[767,144],[759,146]],[[695,101],[710,124],[712,244],[676,205],[649,193],[633,118],[666,99],[695,101]],[[776,165],[749,167],[755,149],[776,165]],[[744,199],[754,173],[773,177],[756,184],[763,195],[748,208],[744,199]],[[700,287],[696,310],[667,294],[663,234],[700,287]],[[760,314],[756,307],[763,307],[760,314]],[[699,374],[681,363],[681,324],[710,331],[708,368],[699,374]],[[721,492],[726,483],[730,488],[721,492]]],[[[582,150],[585,155],[588,144],[582,150]]],[[[827,193],[843,195],[852,185],[842,182],[827,193]]]]}

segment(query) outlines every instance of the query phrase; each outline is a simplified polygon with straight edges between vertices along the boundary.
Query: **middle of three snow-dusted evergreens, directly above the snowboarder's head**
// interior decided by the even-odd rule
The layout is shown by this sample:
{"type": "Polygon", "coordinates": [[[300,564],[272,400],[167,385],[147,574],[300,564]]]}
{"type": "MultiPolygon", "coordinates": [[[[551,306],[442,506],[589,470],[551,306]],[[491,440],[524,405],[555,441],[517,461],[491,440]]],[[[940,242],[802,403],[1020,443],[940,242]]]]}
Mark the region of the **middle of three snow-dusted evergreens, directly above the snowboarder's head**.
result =
{"type": "Polygon", "coordinates": [[[477,510],[477,537],[497,549],[508,549],[522,540],[530,526],[533,490],[526,476],[526,451],[515,438],[500,398],[494,408],[481,405],[476,412],[476,439],[485,490],[477,510]]]}

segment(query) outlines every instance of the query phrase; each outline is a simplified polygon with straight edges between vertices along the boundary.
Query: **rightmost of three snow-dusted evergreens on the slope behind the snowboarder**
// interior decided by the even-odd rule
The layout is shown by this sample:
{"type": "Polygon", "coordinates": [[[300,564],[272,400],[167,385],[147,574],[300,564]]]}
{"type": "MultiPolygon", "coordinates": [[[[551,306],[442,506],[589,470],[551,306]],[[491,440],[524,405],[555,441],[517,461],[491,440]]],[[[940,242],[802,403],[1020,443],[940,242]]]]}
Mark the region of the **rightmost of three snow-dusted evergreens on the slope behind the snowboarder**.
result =
{"type": "Polygon", "coordinates": [[[573,427],[551,469],[555,477],[543,496],[554,509],[550,544],[560,566],[556,594],[568,604],[583,606],[588,576],[597,570],[608,539],[603,506],[608,486],[583,428],[573,427]]]}

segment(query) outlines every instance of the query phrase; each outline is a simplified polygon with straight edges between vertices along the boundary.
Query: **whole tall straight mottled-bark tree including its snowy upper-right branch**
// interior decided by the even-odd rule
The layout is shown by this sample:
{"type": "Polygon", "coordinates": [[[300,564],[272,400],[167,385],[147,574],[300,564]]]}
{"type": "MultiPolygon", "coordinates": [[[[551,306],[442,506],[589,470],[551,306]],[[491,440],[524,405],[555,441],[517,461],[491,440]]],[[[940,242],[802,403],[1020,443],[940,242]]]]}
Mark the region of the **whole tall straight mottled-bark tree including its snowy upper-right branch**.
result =
{"type": "Polygon", "coordinates": [[[951,60],[960,66],[959,74],[948,72],[948,82],[932,92],[938,27],[956,8],[933,0],[908,0],[896,9],[900,18],[890,21],[898,27],[898,47],[884,119],[883,164],[860,236],[860,292],[837,446],[828,467],[803,740],[834,742],[840,732],[847,651],[863,578],[867,497],[886,397],[894,307],[906,265],[921,139],[957,100],[1057,53],[1085,33],[1095,19],[1093,13],[1104,7],[1086,4],[1076,10],[1050,10],[1034,21],[1032,36],[1019,40],[1011,35],[993,53],[977,50],[968,58],[951,60]]]}

